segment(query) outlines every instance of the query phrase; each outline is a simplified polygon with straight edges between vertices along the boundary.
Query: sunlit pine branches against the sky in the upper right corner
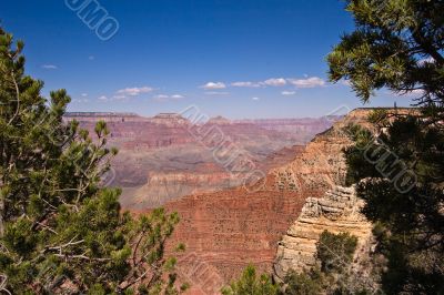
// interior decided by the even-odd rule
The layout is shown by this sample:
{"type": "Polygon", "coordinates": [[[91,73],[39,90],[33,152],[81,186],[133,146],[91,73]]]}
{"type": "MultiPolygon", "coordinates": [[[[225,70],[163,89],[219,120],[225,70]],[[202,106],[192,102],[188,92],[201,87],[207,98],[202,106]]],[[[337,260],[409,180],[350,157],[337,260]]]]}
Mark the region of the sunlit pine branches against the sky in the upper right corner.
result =
{"type": "Polygon", "coordinates": [[[356,30],[330,53],[332,81],[347,79],[363,101],[374,90],[423,90],[442,101],[444,3],[430,0],[346,0],[356,30]]]}

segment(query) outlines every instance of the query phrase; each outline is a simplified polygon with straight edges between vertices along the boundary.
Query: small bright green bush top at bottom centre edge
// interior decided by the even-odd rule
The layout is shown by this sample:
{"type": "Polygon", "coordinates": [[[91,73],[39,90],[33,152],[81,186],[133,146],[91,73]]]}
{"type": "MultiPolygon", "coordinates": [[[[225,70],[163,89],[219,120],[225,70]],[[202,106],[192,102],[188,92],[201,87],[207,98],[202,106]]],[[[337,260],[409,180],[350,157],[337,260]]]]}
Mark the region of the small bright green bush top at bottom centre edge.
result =
{"type": "Polygon", "coordinates": [[[222,289],[224,295],[273,295],[278,294],[278,286],[271,278],[262,274],[258,276],[254,266],[248,266],[238,282],[231,283],[222,289]]]}

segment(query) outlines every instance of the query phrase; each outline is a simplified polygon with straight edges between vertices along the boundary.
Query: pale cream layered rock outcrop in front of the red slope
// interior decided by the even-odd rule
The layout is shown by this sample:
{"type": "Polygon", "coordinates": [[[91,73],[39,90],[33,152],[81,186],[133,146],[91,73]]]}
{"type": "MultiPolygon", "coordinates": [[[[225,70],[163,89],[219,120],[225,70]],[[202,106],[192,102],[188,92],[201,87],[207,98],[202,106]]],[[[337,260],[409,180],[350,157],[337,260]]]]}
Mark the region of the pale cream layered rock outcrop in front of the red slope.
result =
{"type": "Polygon", "coordinates": [[[315,266],[316,243],[324,231],[350,233],[357,237],[356,256],[367,256],[372,245],[372,224],[362,215],[362,200],[354,187],[335,186],[321,199],[307,197],[296,222],[278,246],[274,276],[282,281],[291,271],[315,266]]]}

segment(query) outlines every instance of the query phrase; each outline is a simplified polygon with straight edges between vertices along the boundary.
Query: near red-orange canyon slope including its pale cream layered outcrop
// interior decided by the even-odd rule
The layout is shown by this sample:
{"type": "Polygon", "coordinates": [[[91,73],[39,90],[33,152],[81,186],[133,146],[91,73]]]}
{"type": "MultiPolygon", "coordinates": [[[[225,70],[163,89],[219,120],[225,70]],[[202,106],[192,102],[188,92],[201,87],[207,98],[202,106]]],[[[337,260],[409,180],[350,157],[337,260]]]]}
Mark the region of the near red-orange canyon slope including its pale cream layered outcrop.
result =
{"type": "Polygon", "coordinates": [[[371,129],[371,110],[356,109],[317,134],[294,161],[271,170],[256,191],[240,186],[167,203],[181,216],[167,252],[178,257],[180,281],[192,286],[189,294],[218,294],[249,264],[269,274],[274,269],[278,279],[290,267],[310,266],[323,230],[342,226],[360,237],[360,247],[369,241],[371,225],[356,212],[362,203],[353,189],[343,187],[342,150],[352,144],[344,126],[371,129]],[[299,245],[304,238],[307,243],[299,245]],[[180,242],[186,251],[178,255],[172,248],[180,242]]]}

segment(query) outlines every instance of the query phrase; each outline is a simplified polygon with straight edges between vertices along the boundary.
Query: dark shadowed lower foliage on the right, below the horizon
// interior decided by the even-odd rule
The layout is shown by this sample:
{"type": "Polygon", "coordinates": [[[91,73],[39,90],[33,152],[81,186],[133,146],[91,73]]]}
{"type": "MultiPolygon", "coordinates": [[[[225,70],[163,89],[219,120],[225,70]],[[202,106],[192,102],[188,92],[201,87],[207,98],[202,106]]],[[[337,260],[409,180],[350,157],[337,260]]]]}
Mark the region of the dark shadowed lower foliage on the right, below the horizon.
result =
{"type": "Polygon", "coordinates": [[[436,293],[444,287],[443,135],[407,116],[394,121],[367,151],[352,146],[345,153],[353,181],[365,180],[356,189],[366,201],[364,214],[377,222],[379,253],[389,258],[382,276],[387,293],[436,293]],[[386,151],[391,156],[384,156],[386,151]],[[369,163],[365,155],[370,153],[375,164],[369,163]],[[401,191],[400,182],[393,181],[400,173],[396,167],[407,167],[415,175],[410,191],[401,191]],[[393,172],[383,176],[381,172],[386,171],[393,172]]]}

